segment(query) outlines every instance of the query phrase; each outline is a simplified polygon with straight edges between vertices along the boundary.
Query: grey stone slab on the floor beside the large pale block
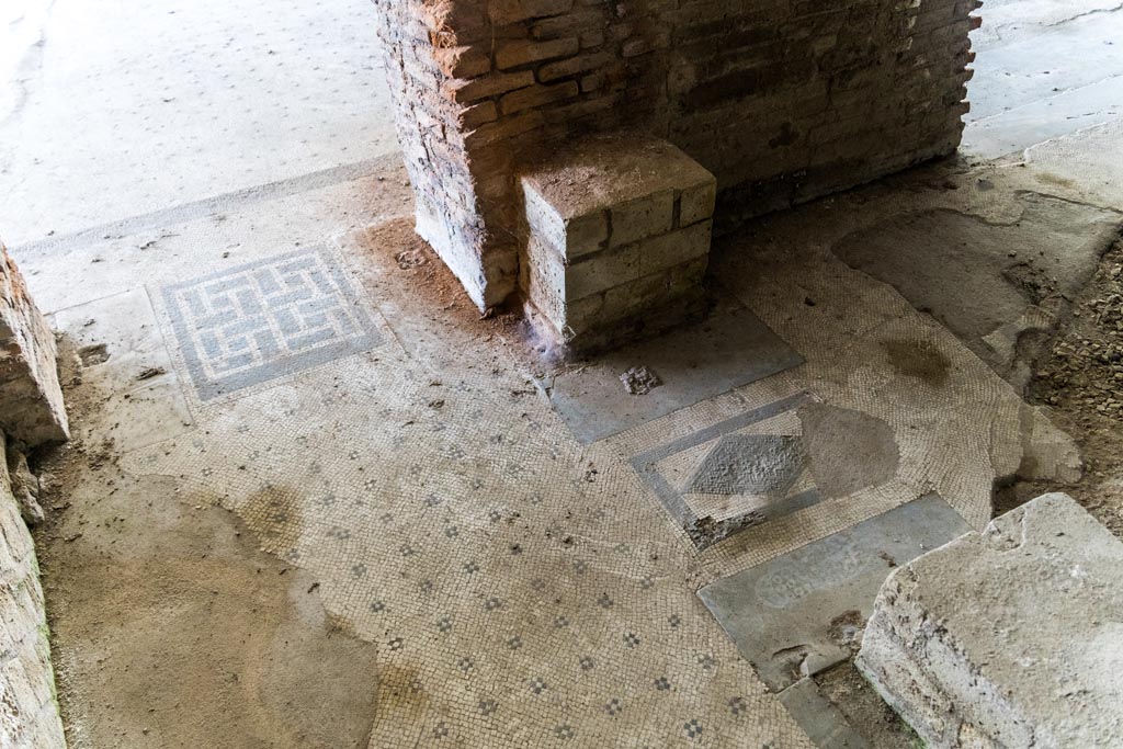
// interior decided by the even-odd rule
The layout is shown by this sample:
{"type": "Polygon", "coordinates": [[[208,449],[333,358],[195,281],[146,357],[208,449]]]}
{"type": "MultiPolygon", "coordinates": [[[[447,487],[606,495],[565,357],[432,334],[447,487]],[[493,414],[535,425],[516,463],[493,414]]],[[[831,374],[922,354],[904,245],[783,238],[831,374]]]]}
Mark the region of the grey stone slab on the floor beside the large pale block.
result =
{"type": "Polygon", "coordinates": [[[970,527],[942,497],[923,496],[699,592],[774,691],[852,655],[893,567],[970,527]]]}

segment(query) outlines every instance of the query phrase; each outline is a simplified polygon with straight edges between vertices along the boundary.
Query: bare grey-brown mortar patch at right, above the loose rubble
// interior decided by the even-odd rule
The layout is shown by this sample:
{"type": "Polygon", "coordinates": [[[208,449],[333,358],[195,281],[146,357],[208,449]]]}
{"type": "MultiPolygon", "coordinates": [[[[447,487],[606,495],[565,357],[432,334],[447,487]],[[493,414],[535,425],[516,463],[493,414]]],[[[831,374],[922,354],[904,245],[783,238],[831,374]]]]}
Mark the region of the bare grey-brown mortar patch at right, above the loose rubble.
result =
{"type": "MultiPolygon", "coordinates": [[[[1123,214],[1019,192],[1016,218],[955,210],[894,216],[833,246],[850,266],[892,284],[1003,377],[1022,387],[1049,332],[1119,236],[1123,214]]],[[[902,369],[941,376],[901,349],[902,369]]]]}

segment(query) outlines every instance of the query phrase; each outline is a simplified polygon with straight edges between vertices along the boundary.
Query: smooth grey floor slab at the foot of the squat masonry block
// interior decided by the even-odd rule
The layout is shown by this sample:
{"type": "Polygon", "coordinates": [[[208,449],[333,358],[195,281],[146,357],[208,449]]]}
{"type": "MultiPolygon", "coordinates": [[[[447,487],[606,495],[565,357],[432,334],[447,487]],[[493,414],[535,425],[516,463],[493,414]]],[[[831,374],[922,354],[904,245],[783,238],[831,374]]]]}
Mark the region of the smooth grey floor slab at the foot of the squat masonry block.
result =
{"type": "Polygon", "coordinates": [[[737,308],[599,356],[547,384],[554,408],[587,445],[802,363],[757,316],[737,308]],[[629,394],[620,375],[637,366],[654,372],[663,385],[629,394]]]}

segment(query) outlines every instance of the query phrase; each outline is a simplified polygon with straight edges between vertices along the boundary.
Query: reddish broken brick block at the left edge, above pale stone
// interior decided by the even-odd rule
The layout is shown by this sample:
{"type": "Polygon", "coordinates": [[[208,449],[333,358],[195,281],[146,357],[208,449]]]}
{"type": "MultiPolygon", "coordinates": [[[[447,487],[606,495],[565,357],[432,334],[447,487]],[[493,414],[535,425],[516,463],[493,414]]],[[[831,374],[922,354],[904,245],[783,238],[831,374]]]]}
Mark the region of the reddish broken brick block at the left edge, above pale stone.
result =
{"type": "Polygon", "coordinates": [[[0,430],[28,446],[70,437],[55,336],[0,243],[0,430]]]}

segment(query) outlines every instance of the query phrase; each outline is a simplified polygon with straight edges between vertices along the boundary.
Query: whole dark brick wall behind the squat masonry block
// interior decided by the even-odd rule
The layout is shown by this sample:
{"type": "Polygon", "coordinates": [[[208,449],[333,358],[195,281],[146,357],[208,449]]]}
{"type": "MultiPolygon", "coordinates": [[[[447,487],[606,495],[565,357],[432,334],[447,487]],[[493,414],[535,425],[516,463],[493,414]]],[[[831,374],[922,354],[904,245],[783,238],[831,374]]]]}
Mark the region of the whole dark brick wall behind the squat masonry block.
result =
{"type": "Polygon", "coordinates": [[[419,232],[486,308],[514,289],[518,164],[638,128],[727,225],[950,153],[976,0],[374,0],[419,232]]]}

